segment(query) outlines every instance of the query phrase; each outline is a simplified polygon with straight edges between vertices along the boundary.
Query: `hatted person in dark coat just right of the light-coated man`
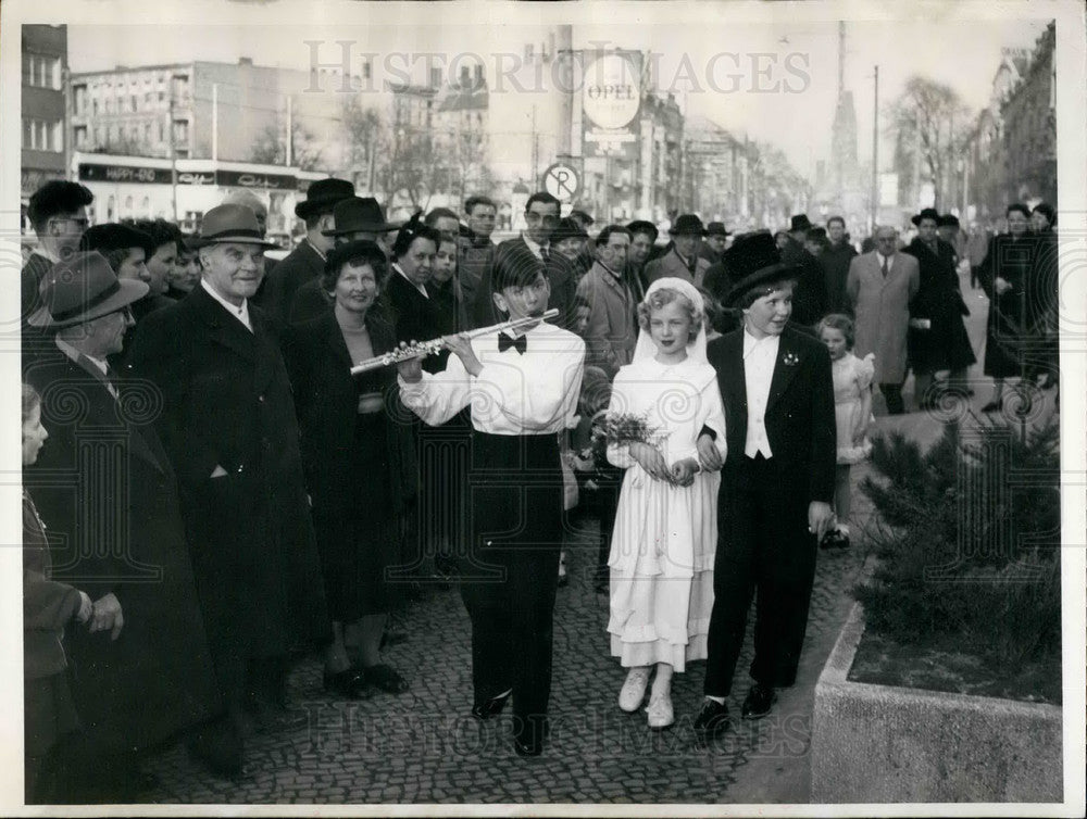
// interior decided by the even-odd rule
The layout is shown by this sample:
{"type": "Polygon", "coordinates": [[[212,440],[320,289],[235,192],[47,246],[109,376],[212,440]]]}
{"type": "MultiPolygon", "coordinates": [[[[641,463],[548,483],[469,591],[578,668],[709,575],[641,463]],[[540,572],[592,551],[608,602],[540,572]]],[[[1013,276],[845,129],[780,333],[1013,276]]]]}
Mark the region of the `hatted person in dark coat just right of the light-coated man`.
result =
{"type": "Polygon", "coordinates": [[[934,405],[929,387],[933,376],[950,370],[948,383],[966,389],[966,368],[977,361],[966,335],[963,316],[970,315],[959,290],[954,249],[937,238],[939,213],[926,207],[913,217],[917,236],[902,249],[917,260],[921,287],[910,302],[908,356],[913,369],[913,393],[919,410],[934,405]]]}

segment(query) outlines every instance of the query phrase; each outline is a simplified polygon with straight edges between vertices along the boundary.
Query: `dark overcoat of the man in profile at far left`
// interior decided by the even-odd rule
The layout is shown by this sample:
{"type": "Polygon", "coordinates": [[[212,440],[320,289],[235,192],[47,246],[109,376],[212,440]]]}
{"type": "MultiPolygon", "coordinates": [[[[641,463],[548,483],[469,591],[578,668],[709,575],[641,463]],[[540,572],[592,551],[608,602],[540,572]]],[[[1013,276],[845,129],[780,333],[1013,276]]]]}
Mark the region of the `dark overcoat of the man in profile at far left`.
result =
{"type": "Polygon", "coordinates": [[[177,482],[151,426],[165,406],[150,385],[118,381],[59,350],[26,379],[49,439],[24,481],[47,527],[52,579],[98,600],[113,593],[124,628],[72,628],[65,647],[92,745],[146,748],[214,716],[218,693],[177,482]]]}

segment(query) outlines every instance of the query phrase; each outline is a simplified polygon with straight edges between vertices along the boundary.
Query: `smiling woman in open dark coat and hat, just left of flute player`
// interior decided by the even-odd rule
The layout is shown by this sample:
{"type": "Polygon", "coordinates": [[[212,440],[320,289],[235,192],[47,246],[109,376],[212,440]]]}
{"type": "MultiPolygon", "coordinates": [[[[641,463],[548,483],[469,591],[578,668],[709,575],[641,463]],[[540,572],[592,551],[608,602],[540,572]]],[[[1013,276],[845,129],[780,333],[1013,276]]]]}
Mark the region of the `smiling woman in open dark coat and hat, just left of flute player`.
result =
{"type": "Polygon", "coordinates": [[[374,242],[337,247],[323,281],[333,310],[297,325],[285,344],[333,620],[325,686],[348,696],[361,696],[366,684],[408,690],[382,662],[380,641],[390,607],[386,569],[397,560],[396,516],[415,492],[411,427],[397,412],[395,369],[350,371],[396,346],[375,306],[384,275],[385,255],[374,242]]]}

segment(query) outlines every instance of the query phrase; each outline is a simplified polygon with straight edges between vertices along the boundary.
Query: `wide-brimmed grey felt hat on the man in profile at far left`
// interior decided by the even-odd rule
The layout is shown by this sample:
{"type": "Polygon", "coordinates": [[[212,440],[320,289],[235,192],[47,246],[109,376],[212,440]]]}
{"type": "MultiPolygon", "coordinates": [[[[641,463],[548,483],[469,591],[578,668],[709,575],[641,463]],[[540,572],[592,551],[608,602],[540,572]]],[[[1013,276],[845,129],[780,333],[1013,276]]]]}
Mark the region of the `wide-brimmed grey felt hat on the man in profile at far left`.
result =
{"type": "Polygon", "coordinates": [[[97,251],[73,253],[41,279],[41,306],[26,320],[54,330],[86,324],[139,301],[148,290],[146,281],[118,279],[97,251]]]}

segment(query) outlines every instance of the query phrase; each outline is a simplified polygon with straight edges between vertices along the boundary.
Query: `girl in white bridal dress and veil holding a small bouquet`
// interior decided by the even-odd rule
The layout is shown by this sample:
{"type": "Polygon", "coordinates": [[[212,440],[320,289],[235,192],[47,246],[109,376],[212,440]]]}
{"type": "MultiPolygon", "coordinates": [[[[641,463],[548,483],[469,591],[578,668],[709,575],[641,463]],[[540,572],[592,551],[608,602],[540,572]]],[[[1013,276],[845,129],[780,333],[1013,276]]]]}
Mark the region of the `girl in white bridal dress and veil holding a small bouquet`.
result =
{"type": "Polygon", "coordinates": [[[713,608],[719,472],[699,470],[697,441],[712,430],[725,454],[716,371],[705,360],[702,298],[678,278],[654,281],[638,305],[641,332],[612,387],[609,416],[644,417],[653,442],[609,442],[625,468],[611,554],[611,652],[628,668],[620,707],[638,710],[649,678],[649,727],[669,728],[672,675],[704,659],[713,608]]]}

